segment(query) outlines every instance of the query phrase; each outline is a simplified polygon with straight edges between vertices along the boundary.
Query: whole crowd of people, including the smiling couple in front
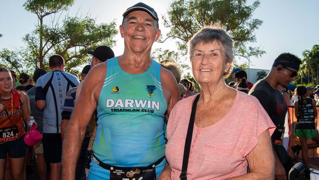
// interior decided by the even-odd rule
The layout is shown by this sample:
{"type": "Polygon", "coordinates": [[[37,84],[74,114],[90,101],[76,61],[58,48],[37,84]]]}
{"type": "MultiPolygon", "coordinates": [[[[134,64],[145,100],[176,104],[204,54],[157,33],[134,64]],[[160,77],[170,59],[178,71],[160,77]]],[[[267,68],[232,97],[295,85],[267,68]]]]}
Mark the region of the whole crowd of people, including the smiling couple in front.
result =
{"type": "Polygon", "coordinates": [[[18,80],[0,67],[0,180],[25,180],[33,154],[40,180],[288,180],[293,162],[283,134],[291,105],[301,144],[292,150],[302,150],[309,167],[307,150],[318,144],[307,139],[319,143],[319,87],[287,90],[298,57],[279,55],[254,85],[233,69],[226,31],[204,27],[188,42],[196,92],[178,64],[150,58],[160,37],[152,7],[129,7],[120,33],[123,54],[107,46],[88,51],[81,82],[59,55],[49,58],[50,72],[36,69],[33,78],[21,73],[18,80]],[[34,125],[40,141],[30,133],[34,125]]]}

